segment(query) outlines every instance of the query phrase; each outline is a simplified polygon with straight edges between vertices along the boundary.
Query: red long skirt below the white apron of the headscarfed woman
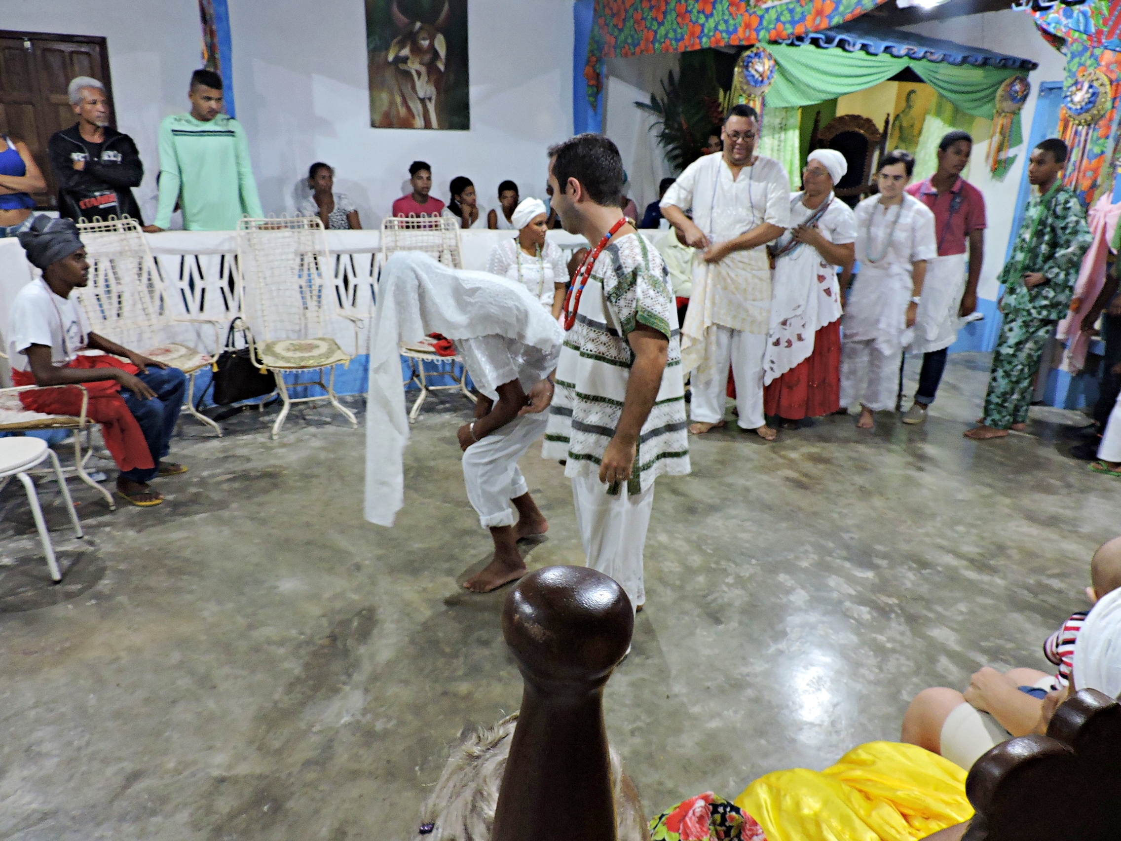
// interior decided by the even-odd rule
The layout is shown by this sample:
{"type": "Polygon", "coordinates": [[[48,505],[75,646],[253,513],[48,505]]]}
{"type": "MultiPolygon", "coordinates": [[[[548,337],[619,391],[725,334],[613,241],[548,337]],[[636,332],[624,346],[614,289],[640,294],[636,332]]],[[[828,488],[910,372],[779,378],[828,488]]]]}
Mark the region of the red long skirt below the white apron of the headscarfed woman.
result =
{"type": "Polygon", "coordinates": [[[814,334],[814,352],[763,389],[763,412],[787,420],[841,408],[841,320],[814,334]]]}

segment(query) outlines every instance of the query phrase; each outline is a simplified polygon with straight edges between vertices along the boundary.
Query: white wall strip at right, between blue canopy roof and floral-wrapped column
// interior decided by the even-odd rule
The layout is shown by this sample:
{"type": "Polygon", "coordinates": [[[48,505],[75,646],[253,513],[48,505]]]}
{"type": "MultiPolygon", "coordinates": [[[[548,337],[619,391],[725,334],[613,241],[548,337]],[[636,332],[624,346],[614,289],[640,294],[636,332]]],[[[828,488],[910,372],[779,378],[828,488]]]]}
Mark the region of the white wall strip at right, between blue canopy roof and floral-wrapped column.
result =
{"type": "Polygon", "coordinates": [[[992,11],[983,15],[967,15],[948,20],[935,20],[906,27],[908,30],[930,38],[943,38],[971,47],[984,47],[999,53],[1030,58],[1039,67],[1028,74],[1031,94],[1020,112],[1023,122],[1025,146],[1017,154],[1016,164],[1001,182],[989,177],[985,155],[989,144],[979,144],[973,149],[970,161],[970,182],[984,193],[985,214],[989,228],[985,231],[985,262],[981,272],[978,292],[981,297],[997,297],[999,285],[997,274],[1004,262],[1004,250],[1012,229],[1016,197],[1020,190],[1020,178],[1028,159],[1027,137],[1036,110],[1036,95],[1040,82],[1060,82],[1065,59],[1063,55],[1043,39],[1030,15],[1021,11],[992,11]]]}

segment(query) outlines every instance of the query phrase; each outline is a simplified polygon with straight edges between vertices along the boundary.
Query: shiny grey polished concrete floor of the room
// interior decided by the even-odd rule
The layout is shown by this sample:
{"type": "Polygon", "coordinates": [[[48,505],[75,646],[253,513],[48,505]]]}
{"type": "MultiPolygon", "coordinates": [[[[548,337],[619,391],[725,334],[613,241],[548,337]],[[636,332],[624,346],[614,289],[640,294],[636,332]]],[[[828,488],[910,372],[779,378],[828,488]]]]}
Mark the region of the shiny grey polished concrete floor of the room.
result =
{"type": "MultiPolygon", "coordinates": [[[[925,427],[724,429],[658,481],[647,610],[606,690],[650,814],[897,738],[917,691],[983,664],[1046,667],[1121,486],[1066,458],[1073,413],[963,440],[988,359],[951,360],[925,427]]],[[[221,440],[186,422],[191,472],[160,508],[111,514],[72,482],[81,542],[44,484],[56,586],[20,488],[0,492],[0,838],[410,837],[448,746],[521,691],[508,590],[458,588],[490,545],[461,400],[416,425],[392,529],[362,520],[363,432],[326,410],[279,442],[256,415],[221,440]]],[[[552,524],[530,566],[581,563],[560,469],[531,452],[522,470],[552,524]]]]}

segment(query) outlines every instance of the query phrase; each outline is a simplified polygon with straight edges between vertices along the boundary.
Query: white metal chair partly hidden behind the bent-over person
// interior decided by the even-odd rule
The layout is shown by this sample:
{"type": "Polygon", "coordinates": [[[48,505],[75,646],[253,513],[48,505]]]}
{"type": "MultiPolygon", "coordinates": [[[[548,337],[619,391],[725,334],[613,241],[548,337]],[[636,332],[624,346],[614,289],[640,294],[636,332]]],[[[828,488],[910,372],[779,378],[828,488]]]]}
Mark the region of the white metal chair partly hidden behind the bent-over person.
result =
{"type": "MultiPolygon", "coordinates": [[[[444,216],[409,216],[383,219],[381,222],[381,252],[383,260],[395,251],[420,251],[429,255],[445,266],[455,269],[463,268],[463,249],[460,242],[461,225],[456,219],[444,216]]],[[[409,423],[416,423],[420,415],[420,407],[428,397],[429,391],[458,390],[467,396],[472,401],[475,397],[467,390],[465,382],[466,369],[463,359],[456,354],[454,357],[442,357],[433,349],[430,342],[402,343],[400,345],[401,355],[409,361],[409,378],[401,385],[407,386],[413,382],[420,389],[420,394],[409,410],[409,423]],[[425,364],[436,364],[441,369],[447,370],[425,371],[425,364]],[[458,367],[458,372],[456,372],[458,367]],[[451,386],[430,386],[428,377],[450,377],[451,386]]]]}

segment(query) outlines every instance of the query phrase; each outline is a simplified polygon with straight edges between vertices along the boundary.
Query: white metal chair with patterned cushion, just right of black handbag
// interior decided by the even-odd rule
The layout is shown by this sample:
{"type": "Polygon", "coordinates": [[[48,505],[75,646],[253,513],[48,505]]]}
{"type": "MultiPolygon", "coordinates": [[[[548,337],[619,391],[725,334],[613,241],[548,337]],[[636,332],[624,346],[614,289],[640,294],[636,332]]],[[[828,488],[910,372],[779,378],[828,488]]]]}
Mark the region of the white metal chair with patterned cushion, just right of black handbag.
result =
{"type": "Polygon", "coordinates": [[[316,216],[242,219],[238,222],[238,294],[242,318],[250,326],[249,348],[254,364],[272,371],[284,400],[272,424],[272,437],[294,403],[327,400],[358,426],[354,414],[335,395],[335,366],[358,355],[362,320],[336,307],[334,271],[323,223],[316,216]],[[331,335],[334,316],[354,329],[354,352],[348,353],[331,335]],[[330,379],[324,371],[331,369],[330,379]],[[319,378],[293,387],[318,387],[326,394],[294,398],[286,371],[319,371],[319,378]]]}

